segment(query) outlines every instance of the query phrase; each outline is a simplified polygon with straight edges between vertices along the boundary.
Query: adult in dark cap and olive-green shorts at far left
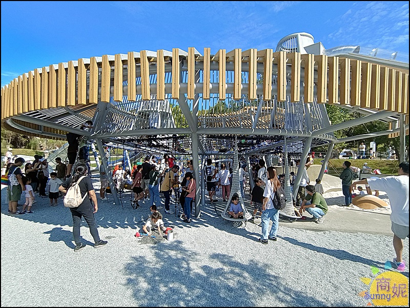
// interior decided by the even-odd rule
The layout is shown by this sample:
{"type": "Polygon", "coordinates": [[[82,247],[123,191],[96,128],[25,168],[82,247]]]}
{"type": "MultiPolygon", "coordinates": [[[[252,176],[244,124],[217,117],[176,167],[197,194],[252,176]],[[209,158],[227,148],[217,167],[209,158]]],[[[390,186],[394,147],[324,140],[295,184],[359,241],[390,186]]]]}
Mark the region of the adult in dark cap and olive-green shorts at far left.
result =
{"type": "Polygon", "coordinates": [[[22,169],[25,162],[24,158],[18,157],[11,165],[9,172],[7,173],[9,177],[10,184],[7,187],[7,196],[9,198],[9,213],[10,215],[18,215],[17,202],[22,196],[22,192],[26,190],[26,186],[22,180],[22,169]]]}

